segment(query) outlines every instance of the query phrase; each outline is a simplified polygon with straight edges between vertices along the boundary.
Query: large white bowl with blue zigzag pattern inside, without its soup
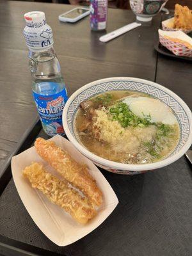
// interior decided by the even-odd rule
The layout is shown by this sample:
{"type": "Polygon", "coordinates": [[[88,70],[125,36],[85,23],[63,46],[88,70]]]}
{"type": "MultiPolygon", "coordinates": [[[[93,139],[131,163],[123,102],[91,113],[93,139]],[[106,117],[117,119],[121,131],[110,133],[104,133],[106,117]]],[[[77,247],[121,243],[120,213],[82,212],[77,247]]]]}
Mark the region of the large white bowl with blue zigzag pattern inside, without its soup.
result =
{"type": "Polygon", "coordinates": [[[93,163],[108,170],[109,172],[120,174],[138,174],[148,170],[161,168],[175,162],[185,154],[192,141],[192,115],[186,103],[175,93],[161,86],[144,79],[133,77],[112,77],[94,81],[86,84],[70,96],[63,110],[63,127],[68,139],[84,156],[88,157],[93,163]],[[131,90],[134,92],[143,92],[160,99],[166,105],[172,108],[177,116],[180,125],[180,140],[175,150],[162,161],[151,164],[122,164],[106,160],[88,151],[81,145],[74,132],[74,121],[79,104],[84,100],[90,99],[95,95],[113,90],[131,90]]]}

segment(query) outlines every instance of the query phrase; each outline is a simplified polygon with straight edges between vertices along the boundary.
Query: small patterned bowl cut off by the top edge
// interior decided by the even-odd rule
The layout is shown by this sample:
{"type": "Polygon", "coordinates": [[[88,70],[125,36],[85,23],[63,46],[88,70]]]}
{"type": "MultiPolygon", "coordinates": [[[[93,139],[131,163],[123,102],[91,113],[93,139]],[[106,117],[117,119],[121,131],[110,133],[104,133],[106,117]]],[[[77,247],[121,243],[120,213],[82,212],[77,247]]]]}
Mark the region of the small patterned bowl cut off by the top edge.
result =
{"type": "Polygon", "coordinates": [[[161,11],[168,0],[129,0],[131,10],[137,20],[150,21],[161,11]]]}

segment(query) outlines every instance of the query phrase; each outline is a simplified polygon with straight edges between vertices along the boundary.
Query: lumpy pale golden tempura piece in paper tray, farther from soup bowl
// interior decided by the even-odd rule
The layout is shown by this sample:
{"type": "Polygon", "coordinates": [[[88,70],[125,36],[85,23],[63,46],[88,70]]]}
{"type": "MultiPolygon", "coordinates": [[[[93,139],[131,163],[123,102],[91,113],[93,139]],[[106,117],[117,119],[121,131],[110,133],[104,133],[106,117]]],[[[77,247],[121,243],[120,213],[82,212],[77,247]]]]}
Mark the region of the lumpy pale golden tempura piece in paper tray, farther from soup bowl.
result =
{"type": "Polygon", "coordinates": [[[85,224],[95,216],[96,211],[87,198],[69,188],[67,182],[47,172],[42,164],[32,163],[23,170],[23,175],[33,188],[42,191],[52,203],[62,207],[79,223],[85,224]]]}

